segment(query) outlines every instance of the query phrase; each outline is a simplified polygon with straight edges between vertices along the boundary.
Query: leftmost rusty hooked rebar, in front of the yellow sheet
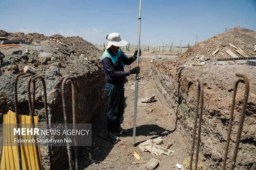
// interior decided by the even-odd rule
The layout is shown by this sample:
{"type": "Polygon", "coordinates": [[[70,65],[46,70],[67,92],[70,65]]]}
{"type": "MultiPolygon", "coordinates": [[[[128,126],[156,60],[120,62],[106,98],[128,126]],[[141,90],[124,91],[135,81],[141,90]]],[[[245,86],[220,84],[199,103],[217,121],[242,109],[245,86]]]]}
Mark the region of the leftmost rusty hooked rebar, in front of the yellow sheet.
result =
{"type": "MultiPolygon", "coordinates": [[[[18,82],[19,77],[22,76],[22,78],[24,78],[24,77],[28,77],[30,75],[31,74],[22,72],[22,73],[19,73],[14,79],[14,107],[15,107],[15,113],[16,113],[15,120],[16,120],[16,128],[17,129],[19,128],[19,109],[18,109],[17,82],[18,82]]],[[[19,139],[20,139],[20,135],[17,134],[17,140],[19,141],[19,139]]],[[[17,143],[17,148],[18,148],[19,170],[22,170],[21,148],[20,148],[20,143],[19,142],[17,143]]]]}

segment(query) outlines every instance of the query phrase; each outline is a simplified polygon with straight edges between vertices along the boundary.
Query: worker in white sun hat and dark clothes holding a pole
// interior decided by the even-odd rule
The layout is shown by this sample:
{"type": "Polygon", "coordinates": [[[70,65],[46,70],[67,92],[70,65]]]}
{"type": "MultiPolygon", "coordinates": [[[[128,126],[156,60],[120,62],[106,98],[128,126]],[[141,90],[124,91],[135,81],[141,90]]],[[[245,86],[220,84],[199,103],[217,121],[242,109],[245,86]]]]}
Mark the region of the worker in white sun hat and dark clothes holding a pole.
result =
{"type": "MultiPolygon", "coordinates": [[[[130,58],[121,51],[120,47],[126,46],[119,33],[111,33],[107,36],[107,48],[102,54],[102,66],[105,72],[105,91],[109,97],[107,109],[107,137],[113,141],[120,140],[116,133],[128,133],[127,129],[121,128],[120,118],[124,110],[124,88],[126,76],[137,74],[140,67],[124,71],[125,65],[130,65],[137,58],[137,50],[130,58]]],[[[139,50],[141,55],[141,50],[139,50]]]]}

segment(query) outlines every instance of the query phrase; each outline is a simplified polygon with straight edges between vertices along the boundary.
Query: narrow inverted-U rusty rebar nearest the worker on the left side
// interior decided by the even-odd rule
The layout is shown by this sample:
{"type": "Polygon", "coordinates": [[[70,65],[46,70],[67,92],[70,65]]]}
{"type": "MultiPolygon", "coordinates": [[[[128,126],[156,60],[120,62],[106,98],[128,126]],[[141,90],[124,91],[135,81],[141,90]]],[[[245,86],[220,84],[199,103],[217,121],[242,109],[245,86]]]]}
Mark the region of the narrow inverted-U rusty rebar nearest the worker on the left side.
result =
{"type": "MultiPolygon", "coordinates": [[[[73,116],[73,129],[76,130],[76,109],[75,109],[75,84],[74,84],[74,77],[72,76],[66,76],[62,80],[62,105],[63,105],[63,113],[64,113],[64,123],[65,123],[65,130],[68,129],[67,127],[67,114],[66,114],[66,82],[68,80],[71,81],[71,88],[72,88],[72,116],[73,116]]],[[[66,138],[69,138],[69,135],[66,134],[66,138]]],[[[78,170],[78,161],[77,161],[77,147],[76,147],[76,140],[74,139],[75,142],[75,149],[74,149],[74,154],[75,154],[75,166],[76,170],[78,170]]],[[[72,166],[72,155],[71,155],[71,148],[69,143],[67,143],[67,152],[68,152],[68,157],[69,157],[69,169],[73,170],[72,166]]]]}

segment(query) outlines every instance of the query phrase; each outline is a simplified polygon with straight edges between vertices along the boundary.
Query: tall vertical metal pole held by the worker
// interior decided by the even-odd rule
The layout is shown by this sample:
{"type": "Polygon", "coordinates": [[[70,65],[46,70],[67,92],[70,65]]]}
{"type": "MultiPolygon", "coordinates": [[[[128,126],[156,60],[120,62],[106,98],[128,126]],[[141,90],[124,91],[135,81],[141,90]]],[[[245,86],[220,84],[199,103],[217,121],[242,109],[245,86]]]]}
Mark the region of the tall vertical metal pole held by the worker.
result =
{"type": "MultiPolygon", "coordinates": [[[[137,46],[137,65],[139,65],[140,60],[140,21],[141,21],[141,0],[140,0],[140,12],[139,12],[139,29],[138,29],[138,46],[137,46]]],[[[139,84],[139,74],[136,74],[136,88],[135,88],[135,104],[134,104],[134,119],[133,119],[133,146],[135,145],[135,135],[136,135],[136,116],[137,116],[137,98],[138,98],[138,84],[139,84]]]]}

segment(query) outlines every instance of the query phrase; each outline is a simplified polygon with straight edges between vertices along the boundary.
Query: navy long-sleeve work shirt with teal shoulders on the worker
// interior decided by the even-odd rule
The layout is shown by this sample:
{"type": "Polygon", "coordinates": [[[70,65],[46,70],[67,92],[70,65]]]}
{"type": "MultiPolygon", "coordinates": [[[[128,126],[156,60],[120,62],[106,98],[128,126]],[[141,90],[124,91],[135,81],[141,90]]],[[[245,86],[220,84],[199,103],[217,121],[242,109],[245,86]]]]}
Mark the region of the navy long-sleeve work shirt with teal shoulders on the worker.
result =
{"type": "Polygon", "coordinates": [[[114,54],[106,49],[102,54],[102,66],[105,78],[111,84],[123,84],[125,77],[130,75],[129,70],[124,71],[124,65],[133,63],[133,57],[128,58],[120,49],[114,54]]]}

